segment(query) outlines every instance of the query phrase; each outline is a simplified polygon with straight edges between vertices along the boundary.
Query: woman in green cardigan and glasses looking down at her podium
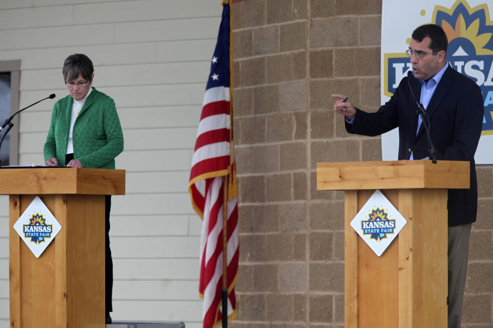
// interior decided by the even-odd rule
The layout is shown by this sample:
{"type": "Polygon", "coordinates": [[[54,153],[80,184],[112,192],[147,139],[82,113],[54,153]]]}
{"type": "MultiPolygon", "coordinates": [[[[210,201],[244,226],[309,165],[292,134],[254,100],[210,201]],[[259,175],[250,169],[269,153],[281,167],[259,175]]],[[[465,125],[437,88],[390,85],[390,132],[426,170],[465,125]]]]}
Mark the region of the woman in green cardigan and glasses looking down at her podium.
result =
{"type": "MultiPolygon", "coordinates": [[[[70,55],[63,64],[69,95],[55,103],[44,147],[47,166],[115,169],[115,157],[123,151],[123,133],[115,101],[91,88],[92,61],[83,54],[70,55]]],[[[109,248],[111,196],[105,196],[105,305],[111,323],[113,263],[109,248]]]]}

